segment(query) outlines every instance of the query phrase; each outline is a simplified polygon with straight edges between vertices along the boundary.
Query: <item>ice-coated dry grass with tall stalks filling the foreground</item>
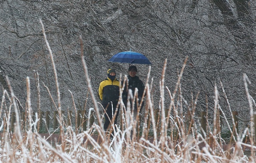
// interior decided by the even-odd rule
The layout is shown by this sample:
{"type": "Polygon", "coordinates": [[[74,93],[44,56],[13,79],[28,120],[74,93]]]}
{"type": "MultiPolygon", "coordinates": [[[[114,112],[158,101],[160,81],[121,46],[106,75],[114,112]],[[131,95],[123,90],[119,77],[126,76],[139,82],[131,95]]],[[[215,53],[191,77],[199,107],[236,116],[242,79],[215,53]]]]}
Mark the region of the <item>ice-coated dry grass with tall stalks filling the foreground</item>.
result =
{"type": "MultiPolygon", "coordinates": [[[[202,134],[198,132],[200,130],[200,126],[197,126],[195,123],[194,115],[199,93],[195,97],[195,101],[193,100],[191,105],[189,105],[182,96],[180,83],[187,59],[185,60],[180,73],[178,73],[178,80],[173,93],[171,93],[167,86],[164,86],[167,60],[164,63],[160,81],[160,123],[154,119],[154,103],[152,100],[153,79],[151,80],[150,87],[148,84],[150,74],[149,70],[144,91],[144,94],[147,94],[147,96],[145,115],[143,117],[144,121],[142,121],[143,123],[141,124],[141,136],[136,131],[137,126],[140,124],[139,121],[141,118],[139,118],[139,114],[136,115],[136,113],[131,111],[134,105],[138,105],[140,107],[141,103],[139,104],[135,102],[134,97],[136,97],[137,92],[135,92],[135,95],[129,92],[128,97],[133,98],[133,102],[131,105],[128,104],[126,109],[124,108],[121,95],[119,97],[119,105],[121,108],[120,124],[114,126],[113,122],[111,122],[110,129],[113,130],[114,135],[113,140],[110,140],[107,138],[107,134],[103,129],[102,115],[99,114],[99,108],[97,106],[98,103],[94,97],[94,93],[90,85],[90,78],[85,61],[83,59],[82,41],[81,59],[84,67],[84,73],[87,79],[88,89],[93,99],[94,111],[96,112],[98,123],[93,123],[91,126],[88,123],[86,131],[79,132],[77,128],[73,129],[72,126],[68,126],[67,122],[64,122],[62,116],[60,115],[58,120],[60,129],[62,129],[60,132],[61,141],[58,142],[55,140],[48,140],[50,137],[42,137],[41,134],[38,134],[38,130],[33,130],[33,128],[35,129],[36,125],[38,124],[39,117],[36,114],[35,120],[32,120],[30,82],[29,78],[27,78],[26,119],[28,120],[28,125],[23,128],[24,131],[21,131],[19,112],[15,100],[15,95],[12,91],[9,80],[7,80],[9,89],[11,90],[11,96],[9,97],[8,92],[4,91],[0,108],[0,114],[3,113],[3,116],[1,116],[3,119],[0,126],[0,130],[2,131],[0,141],[0,162],[250,163],[255,160],[255,155],[253,153],[251,153],[250,157],[248,158],[247,155],[244,154],[244,151],[241,150],[241,146],[250,147],[252,151],[256,149],[256,146],[253,145],[253,132],[249,132],[248,128],[245,129],[241,137],[238,137],[236,130],[233,132],[231,128],[229,128],[230,132],[236,135],[233,135],[233,137],[236,138],[236,141],[234,142],[235,145],[233,147],[233,151],[224,150],[222,145],[223,141],[219,131],[220,122],[218,118],[220,112],[224,117],[225,114],[221,107],[218,105],[218,99],[220,97],[216,88],[214,107],[215,127],[211,129],[212,126],[207,120],[208,132],[204,132],[202,134]],[[168,94],[171,98],[170,101],[164,100],[165,89],[168,91],[168,94]],[[165,109],[164,104],[167,102],[169,102],[169,108],[165,109]],[[183,103],[185,103],[185,105],[189,108],[188,114],[191,116],[189,118],[191,121],[187,123],[187,126],[186,123],[184,123],[186,118],[183,118],[182,114],[183,103]],[[6,109],[6,112],[3,112],[3,109],[6,109]],[[15,110],[16,123],[15,129],[13,132],[10,132],[9,122],[11,120],[10,114],[12,109],[15,110]],[[178,112],[179,109],[180,112],[178,112]],[[157,124],[160,125],[159,131],[157,130],[157,124]],[[188,129],[186,127],[188,127],[188,129]],[[131,133],[131,131],[133,131],[133,133],[131,133]],[[95,138],[96,134],[97,138],[95,138]],[[242,140],[246,134],[249,134],[249,140],[251,144],[242,143],[242,140]],[[152,135],[153,139],[148,138],[148,135],[152,135]],[[204,143],[204,147],[201,146],[202,143],[204,143]]],[[[127,81],[127,76],[124,78],[125,81],[127,81]]],[[[57,83],[57,78],[55,78],[55,80],[57,83]]],[[[124,89],[124,86],[120,85],[120,94],[122,94],[124,89]]],[[[224,89],[222,92],[224,92],[224,89]]],[[[73,94],[72,92],[70,93],[73,100],[73,107],[76,110],[73,94]]],[[[224,94],[224,96],[228,103],[226,94],[224,94]]],[[[247,97],[250,97],[248,92],[247,97]]],[[[249,99],[251,99],[251,97],[249,99]]],[[[228,106],[230,109],[229,103],[228,106]]],[[[58,107],[56,106],[56,108],[60,110],[61,104],[58,103],[58,107]]],[[[116,113],[113,114],[116,116],[116,113]]],[[[228,123],[226,117],[225,121],[228,123]]],[[[234,121],[232,123],[234,123],[234,121]]],[[[75,125],[75,127],[77,127],[77,125],[75,125]]]]}

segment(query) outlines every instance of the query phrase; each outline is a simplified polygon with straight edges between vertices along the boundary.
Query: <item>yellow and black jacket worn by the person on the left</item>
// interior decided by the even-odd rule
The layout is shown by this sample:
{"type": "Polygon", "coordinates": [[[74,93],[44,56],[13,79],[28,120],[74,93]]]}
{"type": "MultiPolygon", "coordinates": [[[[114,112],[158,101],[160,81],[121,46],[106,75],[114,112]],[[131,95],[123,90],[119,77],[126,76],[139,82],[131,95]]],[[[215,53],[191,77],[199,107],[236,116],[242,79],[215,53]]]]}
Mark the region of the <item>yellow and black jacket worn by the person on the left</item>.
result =
{"type": "Polygon", "coordinates": [[[119,99],[119,80],[110,78],[103,80],[99,84],[99,97],[102,103],[110,101],[117,102],[119,99]]]}

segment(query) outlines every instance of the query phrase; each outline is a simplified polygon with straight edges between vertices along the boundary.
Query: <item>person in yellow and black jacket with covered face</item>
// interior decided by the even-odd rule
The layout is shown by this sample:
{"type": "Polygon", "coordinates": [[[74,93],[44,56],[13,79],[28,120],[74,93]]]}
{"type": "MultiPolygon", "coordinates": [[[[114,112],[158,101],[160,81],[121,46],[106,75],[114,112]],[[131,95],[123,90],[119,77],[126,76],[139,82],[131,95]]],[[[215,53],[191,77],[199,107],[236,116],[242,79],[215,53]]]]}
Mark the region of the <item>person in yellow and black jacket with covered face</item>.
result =
{"type": "MultiPolygon", "coordinates": [[[[116,70],[108,69],[108,78],[103,80],[99,84],[99,97],[102,100],[102,106],[106,110],[104,129],[105,131],[108,129],[110,124],[110,120],[113,119],[113,115],[116,112],[116,106],[118,104],[119,99],[119,80],[116,79],[116,70]],[[113,107],[112,107],[113,104],[113,107]],[[108,106],[108,107],[107,107],[108,106]],[[109,119],[108,119],[109,117],[109,119]]],[[[119,107],[117,108],[117,114],[114,120],[114,124],[117,122],[117,115],[119,114],[119,107]]]]}

